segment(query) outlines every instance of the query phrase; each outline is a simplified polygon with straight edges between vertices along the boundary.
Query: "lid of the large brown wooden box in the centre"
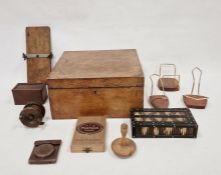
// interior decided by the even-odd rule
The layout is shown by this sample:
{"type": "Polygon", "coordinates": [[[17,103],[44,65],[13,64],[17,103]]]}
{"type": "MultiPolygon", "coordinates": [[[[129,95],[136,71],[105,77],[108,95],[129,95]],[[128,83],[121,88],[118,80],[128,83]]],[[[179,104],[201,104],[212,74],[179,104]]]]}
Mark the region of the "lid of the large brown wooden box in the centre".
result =
{"type": "Polygon", "coordinates": [[[49,88],[143,86],[135,49],[65,51],[50,73],[49,88]]]}

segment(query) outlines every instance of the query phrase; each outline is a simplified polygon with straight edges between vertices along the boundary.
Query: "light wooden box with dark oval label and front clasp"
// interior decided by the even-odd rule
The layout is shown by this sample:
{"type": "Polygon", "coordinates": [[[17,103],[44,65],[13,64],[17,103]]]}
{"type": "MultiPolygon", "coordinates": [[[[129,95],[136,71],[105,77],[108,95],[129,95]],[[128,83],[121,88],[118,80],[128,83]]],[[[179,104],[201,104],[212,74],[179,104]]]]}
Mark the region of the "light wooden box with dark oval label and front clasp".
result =
{"type": "Polygon", "coordinates": [[[71,152],[104,152],[105,129],[105,117],[79,118],[71,143],[71,152]]]}

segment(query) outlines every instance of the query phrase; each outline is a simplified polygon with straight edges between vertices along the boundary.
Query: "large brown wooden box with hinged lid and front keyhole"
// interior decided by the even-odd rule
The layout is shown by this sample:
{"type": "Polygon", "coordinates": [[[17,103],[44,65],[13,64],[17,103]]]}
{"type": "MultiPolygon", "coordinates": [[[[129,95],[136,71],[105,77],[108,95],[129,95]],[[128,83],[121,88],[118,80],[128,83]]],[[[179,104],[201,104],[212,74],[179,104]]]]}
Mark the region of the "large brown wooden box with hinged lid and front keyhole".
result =
{"type": "Polygon", "coordinates": [[[143,107],[144,75],[134,49],[66,51],[47,84],[53,119],[122,118],[143,107]]]}

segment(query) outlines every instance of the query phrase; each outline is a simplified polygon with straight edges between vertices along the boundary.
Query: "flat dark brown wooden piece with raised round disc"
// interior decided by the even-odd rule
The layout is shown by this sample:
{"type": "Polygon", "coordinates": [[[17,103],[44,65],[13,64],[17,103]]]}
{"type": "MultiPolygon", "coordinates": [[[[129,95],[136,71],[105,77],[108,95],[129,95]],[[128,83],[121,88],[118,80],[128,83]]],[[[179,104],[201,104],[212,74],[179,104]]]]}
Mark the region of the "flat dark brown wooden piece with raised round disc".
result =
{"type": "Polygon", "coordinates": [[[61,140],[38,140],[35,141],[33,151],[29,158],[30,164],[56,163],[61,140]]]}

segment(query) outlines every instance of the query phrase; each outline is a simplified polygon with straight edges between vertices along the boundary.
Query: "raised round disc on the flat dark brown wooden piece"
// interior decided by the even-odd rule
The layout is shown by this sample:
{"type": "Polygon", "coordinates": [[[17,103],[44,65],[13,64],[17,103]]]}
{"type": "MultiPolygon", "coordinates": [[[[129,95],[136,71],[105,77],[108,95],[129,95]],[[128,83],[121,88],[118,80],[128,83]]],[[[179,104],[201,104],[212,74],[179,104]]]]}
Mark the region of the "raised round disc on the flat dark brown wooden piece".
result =
{"type": "Polygon", "coordinates": [[[55,151],[55,148],[52,144],[42,144],[42,145],[37,146],[34,149],[34,154],[37,157],[45,158],[45,157],[52,155],[54,151],[55,151]]]}

